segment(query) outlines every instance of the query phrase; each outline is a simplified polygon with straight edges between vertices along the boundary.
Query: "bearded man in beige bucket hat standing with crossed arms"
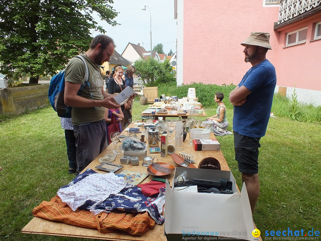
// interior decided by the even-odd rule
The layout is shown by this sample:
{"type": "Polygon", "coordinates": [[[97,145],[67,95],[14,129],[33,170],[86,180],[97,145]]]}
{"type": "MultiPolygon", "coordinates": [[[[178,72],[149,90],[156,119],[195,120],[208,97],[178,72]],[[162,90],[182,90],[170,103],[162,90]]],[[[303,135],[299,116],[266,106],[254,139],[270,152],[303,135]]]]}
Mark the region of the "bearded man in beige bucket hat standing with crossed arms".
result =
{"type": "Polygon", "coordinates": [[[230,93],[230,102],[234,105],[235,160],[247,187],[252,214],[260,194],[259,141],[265,135],[276,85],[275,68],[266,59],[266,52],[272,49],[269,40],[269,33],[252,32],[241,43],[245,47],[244,61],[250,62],[252,67],[230,93]]]}

